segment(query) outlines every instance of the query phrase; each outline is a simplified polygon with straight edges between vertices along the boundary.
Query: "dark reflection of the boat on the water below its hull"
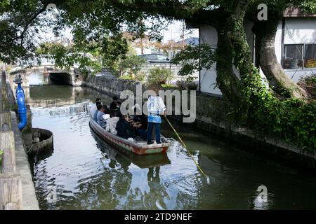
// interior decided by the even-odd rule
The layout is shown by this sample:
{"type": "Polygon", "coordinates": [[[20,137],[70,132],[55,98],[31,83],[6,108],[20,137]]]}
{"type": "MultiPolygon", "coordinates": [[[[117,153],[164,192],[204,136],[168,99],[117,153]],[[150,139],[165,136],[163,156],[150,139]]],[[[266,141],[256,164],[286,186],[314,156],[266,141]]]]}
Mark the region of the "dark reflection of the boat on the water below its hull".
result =
{"type": "MultiPolygon", "coordinates": [[[[105,157],[111,160],[117,160],[122,167],[125,167],[126,162],[131,162],[140,168],[160,167],[170,164],[170,160],[166,153],[153,155],[136,155],[129,151],[123,151],[112,148],[109,144],[103,141],[98,135],[91,130],[93,138],[97,141],[97,146],[101,152],[105,153],[105,157]]],[[[127,165],[127,167],[129,166],[127,165]]]]}

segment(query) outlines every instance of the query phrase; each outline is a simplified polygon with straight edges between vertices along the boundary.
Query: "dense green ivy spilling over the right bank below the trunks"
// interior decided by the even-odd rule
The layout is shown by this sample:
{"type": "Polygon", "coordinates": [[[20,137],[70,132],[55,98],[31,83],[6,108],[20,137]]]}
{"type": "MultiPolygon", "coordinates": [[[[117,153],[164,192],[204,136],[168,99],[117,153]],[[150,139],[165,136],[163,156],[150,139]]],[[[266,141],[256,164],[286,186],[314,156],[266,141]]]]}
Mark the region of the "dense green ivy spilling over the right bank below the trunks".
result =
{"type": "Polygon", "coordinates": [[[284,139],[306,151],[316,148],[316,102],[289,98],[281,101],[265,89],[259,73],[244,78],[242,108],[234,120],[264,137],[284,139]]]}

